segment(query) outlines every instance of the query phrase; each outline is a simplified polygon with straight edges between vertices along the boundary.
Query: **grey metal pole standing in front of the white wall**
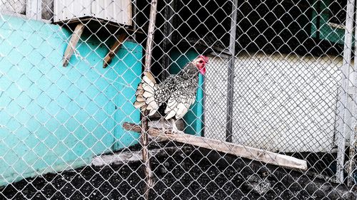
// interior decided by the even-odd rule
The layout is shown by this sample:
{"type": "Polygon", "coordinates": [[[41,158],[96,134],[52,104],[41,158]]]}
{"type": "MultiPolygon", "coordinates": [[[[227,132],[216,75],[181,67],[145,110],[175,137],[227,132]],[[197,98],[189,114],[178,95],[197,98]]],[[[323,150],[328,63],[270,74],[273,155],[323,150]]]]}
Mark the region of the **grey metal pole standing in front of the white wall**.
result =
{"type": "Polygon", "coordinates": [[[227,85],[227,115],[226,115],[226,141],[232,142],[233,132],[233,98],[234,98],[234,60],[236,56],[236,27],[237,27],[237,8],[238,0],[232,1],[232,14],[231,14],[231,33],[229,38],[229,51],[231,59],[228,63],[228,85],[227,85]]]}

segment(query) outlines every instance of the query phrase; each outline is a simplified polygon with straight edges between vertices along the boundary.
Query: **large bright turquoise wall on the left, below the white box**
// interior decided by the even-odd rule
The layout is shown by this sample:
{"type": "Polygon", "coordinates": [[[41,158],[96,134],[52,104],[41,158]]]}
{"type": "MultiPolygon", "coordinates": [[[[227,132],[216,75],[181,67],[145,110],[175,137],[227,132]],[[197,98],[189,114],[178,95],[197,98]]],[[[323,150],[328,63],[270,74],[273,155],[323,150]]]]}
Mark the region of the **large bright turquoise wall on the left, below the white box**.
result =
{"type": "Polygon", "coordinates": [[[132,102],[141,46],[125,42],[104,69],[113,41],[84,34],[79,56],[63,68],[70,35],[49,23],[0,18],[0,185],[81,167],[138,142],[139,134],[121,124],[139,122],[132,102]]]}

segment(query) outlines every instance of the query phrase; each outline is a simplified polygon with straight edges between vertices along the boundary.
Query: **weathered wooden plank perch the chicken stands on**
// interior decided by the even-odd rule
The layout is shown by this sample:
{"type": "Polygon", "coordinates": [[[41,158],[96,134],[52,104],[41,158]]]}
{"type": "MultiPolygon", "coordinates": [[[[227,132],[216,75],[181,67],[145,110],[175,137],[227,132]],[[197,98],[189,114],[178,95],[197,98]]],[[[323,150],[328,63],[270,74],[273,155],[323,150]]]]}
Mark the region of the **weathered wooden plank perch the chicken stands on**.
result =
{"type": "MultiPolygon", "coordinates": [[[[129,122],[124,122],[123,127],[125,130],[141,132],[141,127],[139,125],[135,125],[129,122]]],[[[154,128],[149,129],[149,135],[153,137],[167,138],[176,142],[192,144],[194,146],[203,147],[206,149],[213,149],[218,152],[233,154],[238,157],[245,157],[259,162],[278,165],[280,167],[288,167],[302,170],[306,170],[308,168],[307,162],[303,159],[297,159],[295,157],[277,154],[263,149],[247,147],[241,144],[223,142],[220,140],[213,140],[206,137],[198,137],[188,134],[172,134],[170,131],[167,131],[166,134],[164,134],[161,130],[157,130],[154,128]]]]}

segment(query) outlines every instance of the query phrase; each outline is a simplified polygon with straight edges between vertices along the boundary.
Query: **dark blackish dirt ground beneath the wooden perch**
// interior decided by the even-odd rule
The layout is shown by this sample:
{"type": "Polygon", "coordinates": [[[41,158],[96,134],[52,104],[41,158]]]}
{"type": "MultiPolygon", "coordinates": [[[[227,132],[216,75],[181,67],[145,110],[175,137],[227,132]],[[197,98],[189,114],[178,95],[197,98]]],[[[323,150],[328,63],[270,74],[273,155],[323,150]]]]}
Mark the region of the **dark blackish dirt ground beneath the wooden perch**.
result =
{"type": "MultiPolygon", "coordinates": [[[[185,146],[151,158],[150,199],[356,199],[356,190],[299,172],[185,146]]],[[[24,179],[0,189],[0,199],[143,199],[143,179],[140,162],[88,166],[24,179]]]]}

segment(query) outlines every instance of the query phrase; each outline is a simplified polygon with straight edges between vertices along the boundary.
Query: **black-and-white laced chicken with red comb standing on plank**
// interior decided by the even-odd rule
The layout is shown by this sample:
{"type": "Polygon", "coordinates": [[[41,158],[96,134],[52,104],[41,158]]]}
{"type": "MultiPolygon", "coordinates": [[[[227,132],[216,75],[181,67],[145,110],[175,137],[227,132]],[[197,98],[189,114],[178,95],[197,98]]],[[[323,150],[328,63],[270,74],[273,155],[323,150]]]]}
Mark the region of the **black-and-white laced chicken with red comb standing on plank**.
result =
{"type": "MultiPolygon", "coordinates": [[[[196,100],[198,74],[205,75],[208,57],[200,55],[186,63],[176,75],[170,75],[161,83],[149,71],[136,89],[134,107],[149,116],[159,112],[165,120],[171,120],[173,132],[183,133],[176,127],[176,121],[183,118],[196,100]]],[[[161,119],[163,119],[161,117],[161,119]]]]}

